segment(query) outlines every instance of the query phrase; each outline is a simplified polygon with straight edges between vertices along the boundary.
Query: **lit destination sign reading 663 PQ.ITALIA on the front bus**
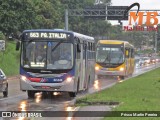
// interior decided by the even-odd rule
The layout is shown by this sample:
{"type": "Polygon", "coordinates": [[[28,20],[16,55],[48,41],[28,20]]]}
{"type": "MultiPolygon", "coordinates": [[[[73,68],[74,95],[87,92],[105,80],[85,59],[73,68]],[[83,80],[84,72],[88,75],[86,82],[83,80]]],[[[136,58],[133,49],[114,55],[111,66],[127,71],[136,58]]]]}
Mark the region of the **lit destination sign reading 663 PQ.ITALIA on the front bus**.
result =
{"type": "Polygon", "coordinates": [[[65,33],[49,33],[49,32],[30,32],[28,34],[29,38],[49,38],[49,39],[67,39],[67,34],[65,33]]]}

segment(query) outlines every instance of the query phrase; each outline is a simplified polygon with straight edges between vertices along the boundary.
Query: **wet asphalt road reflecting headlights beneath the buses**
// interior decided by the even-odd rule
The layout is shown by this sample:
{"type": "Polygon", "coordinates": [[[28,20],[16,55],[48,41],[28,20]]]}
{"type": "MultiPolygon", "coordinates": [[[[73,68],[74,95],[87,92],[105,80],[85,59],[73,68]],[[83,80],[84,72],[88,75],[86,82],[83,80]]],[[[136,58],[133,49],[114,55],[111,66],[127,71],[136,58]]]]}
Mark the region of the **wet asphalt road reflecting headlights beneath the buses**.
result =
{"type": "MultiPolygon", "coordinates": [[[[159,66],[160,63],[137,68],[135,69],[133,76],[143,74],[159,66]]],[[[81,92],[76,98],[70,98],[68,93],[54,93],[53,95],[48,95],[45,97],[42,95],[42,93],[36,93],[34,99],[28,99],[27,93],[20,91],[18,77],[9,78],[8,82],[8,97],[3,98],[2,93],[0,93],[0,111],[68,111],[71,109],[76,109],[75,107],[71,107],[74,105],[76,98],[111,87],[117,82],[120,82],[120,80],[118,80],[116,77],[105,77],[95,80],[94,84],[90,86],[88,92],[81,92]]],[[[6,119],[7,118],[5,118],[5,120],[6,119]]],[[[19,118],[17,118],[17,120],[18,119],[19,118]]]]}

